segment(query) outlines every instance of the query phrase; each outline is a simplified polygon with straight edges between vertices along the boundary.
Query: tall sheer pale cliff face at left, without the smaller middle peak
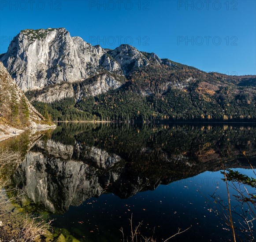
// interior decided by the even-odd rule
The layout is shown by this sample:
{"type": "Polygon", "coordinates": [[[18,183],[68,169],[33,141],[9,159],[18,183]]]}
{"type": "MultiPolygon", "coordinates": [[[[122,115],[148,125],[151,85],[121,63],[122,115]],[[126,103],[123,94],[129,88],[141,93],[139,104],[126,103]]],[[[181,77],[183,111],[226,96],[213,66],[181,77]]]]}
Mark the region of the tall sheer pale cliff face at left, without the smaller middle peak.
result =
{"type": "Polygon", "coordinates": [[[96,72],[104,51],[66,29],[26,29],[12,41],[1,61],[19,87],[43,88],[61,81],[77,81],[96,72]]]}

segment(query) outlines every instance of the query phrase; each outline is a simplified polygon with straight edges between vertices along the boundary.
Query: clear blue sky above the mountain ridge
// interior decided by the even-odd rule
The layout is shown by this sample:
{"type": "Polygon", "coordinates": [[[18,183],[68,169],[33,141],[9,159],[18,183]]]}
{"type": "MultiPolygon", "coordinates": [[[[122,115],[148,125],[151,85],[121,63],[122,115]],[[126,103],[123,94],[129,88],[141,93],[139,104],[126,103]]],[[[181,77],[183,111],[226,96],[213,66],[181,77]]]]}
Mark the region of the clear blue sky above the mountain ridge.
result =
{"type": "Polygon", "coordinates": [[[256,74],[256,1],[0,0],[0,53],[22,29],[66,28],[204,71],[256,74]],[[193,6],[191,6],[191,4],[193,6]]]}

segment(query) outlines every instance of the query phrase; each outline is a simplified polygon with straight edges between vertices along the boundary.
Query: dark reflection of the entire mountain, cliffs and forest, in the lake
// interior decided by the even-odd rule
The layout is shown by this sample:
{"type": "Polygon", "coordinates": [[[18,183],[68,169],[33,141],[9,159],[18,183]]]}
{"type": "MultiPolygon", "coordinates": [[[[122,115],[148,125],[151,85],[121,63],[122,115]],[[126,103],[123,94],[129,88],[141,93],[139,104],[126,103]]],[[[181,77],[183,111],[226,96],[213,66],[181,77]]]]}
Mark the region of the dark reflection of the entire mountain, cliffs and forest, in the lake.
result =
{"type": "Polygon", "coordinates": [[[111,130],[111,126],[78,130],[61,142],[59,137],[65,137],[67,130],[58,127],[51,138],[37,141],[13,175],[19,187],[26,187],[29,198],[52,213],[63,213],[70,205],[103,193],[128,198],[159,184],[220,170],[223,163],[249,167],[246,159],[237,155],[246,150],[255,157],[256,152],[255,140],[250,138],[253,129],[243,130],[241,136],[238,132],[225,136],[225,131],[219,134],[218,129],[188,132],[186,127],[140,132],[132,127],[111,130]],[[246,140],[246,132],[252,141],[246,140]]]}

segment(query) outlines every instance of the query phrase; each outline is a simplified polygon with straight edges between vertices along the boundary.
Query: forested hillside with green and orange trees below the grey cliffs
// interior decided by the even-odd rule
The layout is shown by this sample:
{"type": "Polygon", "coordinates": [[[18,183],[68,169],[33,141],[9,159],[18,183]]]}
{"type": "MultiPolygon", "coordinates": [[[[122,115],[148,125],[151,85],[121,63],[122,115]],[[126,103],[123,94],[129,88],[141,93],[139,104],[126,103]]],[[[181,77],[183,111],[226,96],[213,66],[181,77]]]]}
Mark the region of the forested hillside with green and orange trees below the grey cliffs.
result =
{"type": "Polygon", "coordinates": [[[138,68],[120,88],[100,95],[33,105],[56,121],[256,120],[256,77],[205,73],[173,63],[138,68]]]}

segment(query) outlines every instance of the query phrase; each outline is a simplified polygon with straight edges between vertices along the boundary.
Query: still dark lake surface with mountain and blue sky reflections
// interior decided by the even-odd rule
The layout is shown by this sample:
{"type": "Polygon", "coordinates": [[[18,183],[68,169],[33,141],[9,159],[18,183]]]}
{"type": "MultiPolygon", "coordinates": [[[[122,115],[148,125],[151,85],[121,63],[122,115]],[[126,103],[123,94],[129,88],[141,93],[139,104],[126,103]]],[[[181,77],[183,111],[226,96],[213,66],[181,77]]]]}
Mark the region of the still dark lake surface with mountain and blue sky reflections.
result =
{"type": "Polygon", "coordinates": [[[248,160],[256,166],[253,125],[70,123],[33,140],[12,180],[81,241],[121,241],[131,215],[157,241],[191,225],[172,241],[229,241],[207,199],[216,188],[227,198],[223,166],[254,176],[248,160]]]}

